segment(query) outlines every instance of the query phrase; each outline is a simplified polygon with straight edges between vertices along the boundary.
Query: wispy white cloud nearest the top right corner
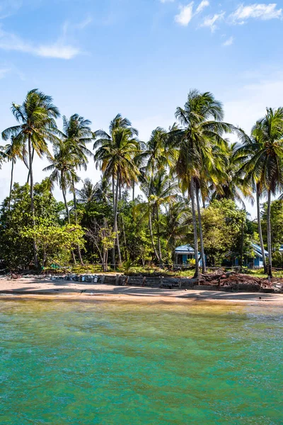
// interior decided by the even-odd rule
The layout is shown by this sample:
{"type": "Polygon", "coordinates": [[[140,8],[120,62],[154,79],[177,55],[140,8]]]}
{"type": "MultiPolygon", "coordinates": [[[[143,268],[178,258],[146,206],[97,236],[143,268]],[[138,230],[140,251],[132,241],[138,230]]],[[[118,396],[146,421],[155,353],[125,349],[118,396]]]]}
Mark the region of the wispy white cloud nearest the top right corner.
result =
{"type": "Polygon", "coordinates": [[[230,18],[233,23],[243,24],[249,18],[261,19],[268,21],[269,19],[281,18],[282,8],[278,9],[276,3],[270,4],[250,4],[238,6],[235,12],[231,13],[230,18]]]}

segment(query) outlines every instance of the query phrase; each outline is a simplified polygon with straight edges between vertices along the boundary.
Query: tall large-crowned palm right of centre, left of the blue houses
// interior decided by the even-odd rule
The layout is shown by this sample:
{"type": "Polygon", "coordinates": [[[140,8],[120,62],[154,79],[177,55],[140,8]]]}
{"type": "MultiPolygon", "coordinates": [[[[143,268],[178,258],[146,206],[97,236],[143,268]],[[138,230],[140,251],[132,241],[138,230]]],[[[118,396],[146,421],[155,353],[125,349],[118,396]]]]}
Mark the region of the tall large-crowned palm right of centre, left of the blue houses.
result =
{"type": "MultiPolygon", "coordinates": [[[[171,132],[173,146],[178,148],[178,161],[175,171],[180,179],[190,181],[190,199],[192,203],[192,224],[194,228],[195,245],[195,278],[199,276],[197,217],[195,211],[196,182],[200,179],[201,171],[215,169],[214,145],[226,146],[224,132],[231,132],[232,126],[223,123],[224,112],[222,105],[209,93],[191,90],[187,95],[184,108],[178,107],[175,117],[180,128],[171,132]]],[[[200,212],[199,212],[200,217],[200,212]]],[[[202,232],[201,220],[199,227],[202,232]]],[[[201,241],[201,252],[204,265],[204,247],[201,241]]]]}

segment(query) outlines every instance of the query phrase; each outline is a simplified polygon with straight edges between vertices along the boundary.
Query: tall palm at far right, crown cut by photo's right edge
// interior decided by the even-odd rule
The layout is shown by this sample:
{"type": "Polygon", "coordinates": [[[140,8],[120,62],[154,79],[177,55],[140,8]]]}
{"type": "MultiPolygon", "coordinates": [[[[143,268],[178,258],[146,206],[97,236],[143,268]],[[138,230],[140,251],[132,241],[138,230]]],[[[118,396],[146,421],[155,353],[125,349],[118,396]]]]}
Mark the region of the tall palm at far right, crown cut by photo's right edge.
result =
{"type": "Polygon", "coordinates": [[[265,117],[255,124],[253,139],[241,148],[250,155],[245,164],[247,174],[252,174],[258,183],[258,194],[267,191],[267,274],[272,278],[272,241],[270,208],[271,196],[283,184],[283,108],[267,108],[265,117]]]}

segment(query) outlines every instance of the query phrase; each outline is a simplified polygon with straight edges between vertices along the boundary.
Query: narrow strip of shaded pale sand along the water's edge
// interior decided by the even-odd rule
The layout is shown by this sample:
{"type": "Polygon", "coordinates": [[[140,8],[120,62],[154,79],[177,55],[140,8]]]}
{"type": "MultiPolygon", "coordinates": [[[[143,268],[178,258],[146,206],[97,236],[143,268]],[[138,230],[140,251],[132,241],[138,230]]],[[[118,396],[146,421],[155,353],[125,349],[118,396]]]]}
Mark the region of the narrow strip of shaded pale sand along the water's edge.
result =
{"type": "Polygon", "coordinates": [[[99,283],[38,278],[0,279],[0,297],[60,300],[120,300],[131,302],[260,302],[283,305],[283,294],[224,292],[101,285],[99,283]]]}

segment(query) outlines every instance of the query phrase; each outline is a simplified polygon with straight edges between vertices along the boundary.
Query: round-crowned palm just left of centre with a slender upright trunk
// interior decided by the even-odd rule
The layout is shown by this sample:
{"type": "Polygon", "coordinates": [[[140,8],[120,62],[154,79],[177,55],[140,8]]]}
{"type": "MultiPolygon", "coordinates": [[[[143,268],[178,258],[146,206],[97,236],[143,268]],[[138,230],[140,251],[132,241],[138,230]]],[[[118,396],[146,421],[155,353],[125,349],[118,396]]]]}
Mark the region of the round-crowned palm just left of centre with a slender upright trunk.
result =
{"type": "MultiPolygon", "coordinates": [[[[137,181],[139,169],[134,157],[139,153],[137,130],[131,127],[127,118],[118,114],[110,123],[110,134],[100,130],[96,132],[97,140],[93,149],[96,165],[103,171],[104,179],[112,180],[112,196],[114,211],[113,232],[116,234],[116,246],[119,263],[122,262],[117,232],[118,193],[121,185],[130,187],[132,181],[137,181]]],[[[112,250],[112,263],[115,264],[115,250],[112,250]]]]}

